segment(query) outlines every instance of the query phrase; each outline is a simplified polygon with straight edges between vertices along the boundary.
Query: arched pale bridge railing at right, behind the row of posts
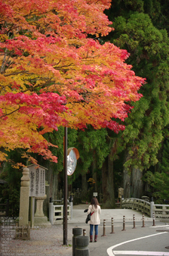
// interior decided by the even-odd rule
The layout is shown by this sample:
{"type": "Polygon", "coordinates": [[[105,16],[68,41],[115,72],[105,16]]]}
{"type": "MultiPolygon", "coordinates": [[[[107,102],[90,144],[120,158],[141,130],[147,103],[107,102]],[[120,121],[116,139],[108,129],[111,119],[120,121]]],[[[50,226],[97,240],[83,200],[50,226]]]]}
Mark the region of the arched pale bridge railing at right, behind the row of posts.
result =
{"type": "Polygon", "coordinates": [[[169,218],[169,204],[155,204],[154,201],[149,202],[139,198],[124,198],[122,208],[141,211],[149,217],[155,214],[155,217],[169,218]]]}

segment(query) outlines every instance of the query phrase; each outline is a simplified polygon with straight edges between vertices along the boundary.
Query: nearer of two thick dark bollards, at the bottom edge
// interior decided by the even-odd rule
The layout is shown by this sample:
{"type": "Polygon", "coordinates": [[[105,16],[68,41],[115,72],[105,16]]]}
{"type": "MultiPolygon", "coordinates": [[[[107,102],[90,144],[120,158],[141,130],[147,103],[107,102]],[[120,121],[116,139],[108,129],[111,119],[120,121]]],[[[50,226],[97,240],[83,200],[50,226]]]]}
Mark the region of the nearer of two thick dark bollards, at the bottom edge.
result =
{"type": "Polygon", "coordinates": [[[88,236],[78,236],[76,238],[75,256],[89,256],[88,244],[88,236]]]}

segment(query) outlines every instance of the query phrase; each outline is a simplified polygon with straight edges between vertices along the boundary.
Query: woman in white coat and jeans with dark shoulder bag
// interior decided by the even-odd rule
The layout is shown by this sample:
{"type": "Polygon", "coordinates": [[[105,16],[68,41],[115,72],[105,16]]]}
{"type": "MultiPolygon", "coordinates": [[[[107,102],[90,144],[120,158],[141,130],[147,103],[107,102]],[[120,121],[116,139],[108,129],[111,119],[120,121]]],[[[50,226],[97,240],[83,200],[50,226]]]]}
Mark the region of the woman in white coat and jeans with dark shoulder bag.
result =
{"type": "Polygon", "coordinates": [[[91,220],[89,220],[90,224],[90,242],[93,242],[93,231],[95,232],[94,242],[97,242],[98,236],[98,225],[100,224],[100,214],[101,208],[97,198],[91,199],[91,204],[88,207],[88,214],[91,213],[91,220]]]}

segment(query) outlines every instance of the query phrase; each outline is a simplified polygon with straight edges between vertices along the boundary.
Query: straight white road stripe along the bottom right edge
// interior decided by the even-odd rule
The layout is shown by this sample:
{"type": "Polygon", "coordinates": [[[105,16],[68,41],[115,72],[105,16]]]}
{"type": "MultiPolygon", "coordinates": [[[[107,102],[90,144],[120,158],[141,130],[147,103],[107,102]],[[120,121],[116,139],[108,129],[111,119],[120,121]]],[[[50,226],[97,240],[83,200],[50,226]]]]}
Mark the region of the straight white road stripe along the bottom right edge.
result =
{"type": "Polygon", "coordinates": [[[146,255],[146,256],[168,256],[166,251],[113,251],[115,255],[146,255]]]}

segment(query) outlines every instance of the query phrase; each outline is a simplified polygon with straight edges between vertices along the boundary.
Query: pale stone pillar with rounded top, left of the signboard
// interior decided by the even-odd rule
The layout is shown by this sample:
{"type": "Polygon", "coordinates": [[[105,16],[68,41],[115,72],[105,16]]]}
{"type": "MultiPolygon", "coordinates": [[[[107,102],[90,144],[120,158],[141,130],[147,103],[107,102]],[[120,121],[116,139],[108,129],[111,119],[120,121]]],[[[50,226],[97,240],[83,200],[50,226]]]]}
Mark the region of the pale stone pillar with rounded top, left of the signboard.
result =
{"type": "Polygon", "coordinates": [[[20,220],[19,226],[28,225],[29,217],[29,168],[23,168],[20,187],[20,220]]]}

